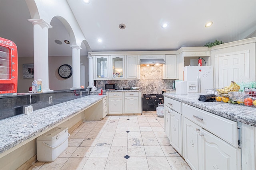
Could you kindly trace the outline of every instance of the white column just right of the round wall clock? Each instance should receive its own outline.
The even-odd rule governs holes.
[[[80,89],[81,88],[81,80],[80,80],[80,49],[78,45],[70,45],[72,48],[72,71],[73,71],[73,87],[72,89]]]

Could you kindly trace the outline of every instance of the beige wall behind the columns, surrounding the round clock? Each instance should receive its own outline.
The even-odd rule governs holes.
[[[33,57],[18,57],[18,93],[26,93],[32,84],[33,78],[23,78],[23,64],[34,63]],[[72,78],[61,78],[58,74],[58,68],[62,64],[69,64],[72,66],[71,56],[54,56],[49,57],[49,88],[51,90],[64,90],[72,88]],[[80,57],[80,81],[81,85],[88,87],[88,58],[86,56]]]

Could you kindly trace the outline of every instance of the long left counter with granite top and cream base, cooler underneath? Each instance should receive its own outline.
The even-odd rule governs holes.
[[[36,138],[62,126],[72,131],[86,115],[103,114],[102,96],[85,96],[0,121],[0,169],[16,169],[26,161],[36,161]],[[103,117],[102,117],[103,118]],[[28,166],[30,167],[28,162]]]

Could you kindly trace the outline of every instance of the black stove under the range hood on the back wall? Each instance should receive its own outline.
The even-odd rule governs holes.
[[[162,94],[143,94],[142,95],[142,111],[156,111],[158,104],[164,102]]]

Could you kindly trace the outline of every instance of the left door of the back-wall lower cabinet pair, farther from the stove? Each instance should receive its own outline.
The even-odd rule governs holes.
[[[108,98],[108,113],[122,114],[122,98]]]

